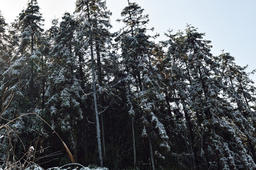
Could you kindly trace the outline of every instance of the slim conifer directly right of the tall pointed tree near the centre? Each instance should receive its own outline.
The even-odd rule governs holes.
[[[159,64],[162,67],[162,77],[164,77],[163,88],[166,89],[166,102],[169,103],[170,116],[172,121],[174,121],[174,125],[170,129],[179,131],[184,128],[183,130],[187,134],[183,137],[181,136],[181,139],[184,140],[188,148],[186,152],[188,152],[188,155],[191,155],[191,166],[193,169],[198,169],[198,153],[194,142],[196,138],[193,134],[195,125],[192,121],[193,115],[187,100],[189,94],[188,86],[191,85],[191,79],[190,73],[186,69],[186,47],[184,47],[186,44],[183,41],[184,37],[182,34],[178,32],[172,35],[171,31],[169,31],[169,34],[166,34],[169,40],[162,43],[164,47],[168,47],[168,50],[166,55],[159,59]],[[182,150],[180,149],[178,152],[182,153]]]

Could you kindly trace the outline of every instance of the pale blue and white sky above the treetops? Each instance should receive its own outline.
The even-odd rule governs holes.
[[[166,40],[167,30],[183,31],[187,24],[198,28],[198,32],[206,33],[205,39],[211,40],[213,55],[221,51],[230,52],[236,64],[248,65],[247,72],[256,69],[256,1],[255,0],[130,0],[137,2],[149,14],[149,28],[159,33],[158,40]],[[28,0],[0,0],[1,14],[6,23],[11,23],[18,13],[26,8]],[[45,19],[45,28],[49,28],[51,20],[61,18],[63,13],[73,13],[75,0],[38,0],[41,13]],[[127,0],[107,0],[107,7],[112,11],[112,30],[118,30],[122,24],[122,9]],[[61,20],[59,20],[61,21]],[[256,82],[256,74],[250,77]]]

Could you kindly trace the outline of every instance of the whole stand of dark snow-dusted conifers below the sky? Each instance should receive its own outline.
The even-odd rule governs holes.
[[[77,0],[48,30],[36,0],[0,14],[1,168],[255,169],[246,67],[190,25],[156,42],[137,3],[115,33],[111,14]]]

